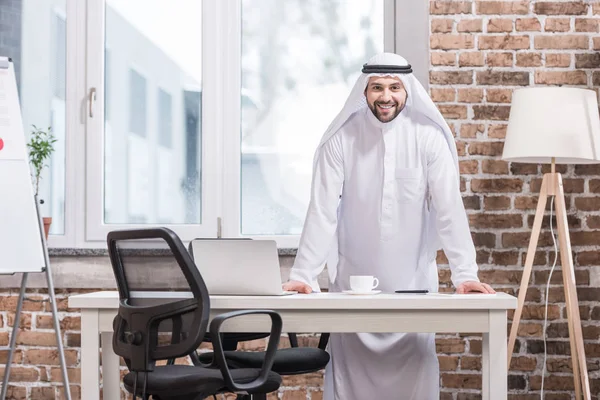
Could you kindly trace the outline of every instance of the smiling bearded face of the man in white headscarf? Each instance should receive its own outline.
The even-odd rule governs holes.
[[[365,89],[367,104],[381,122],[390,122],[406,104],[406,89],[400,78],[372,76]]]

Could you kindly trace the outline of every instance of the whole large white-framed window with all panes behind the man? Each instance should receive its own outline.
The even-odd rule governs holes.
[[[398,50],[404,2],[0,2],[26,132],[58,139],[41,187],[50,245],[166,226],[296,246],[318,141],[362,64]]]

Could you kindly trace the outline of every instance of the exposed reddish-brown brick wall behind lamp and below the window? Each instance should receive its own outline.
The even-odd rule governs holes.
[[[438,1],[431,3],[431,95],[457,137],[462,189],[478,251],[482,280],[516,294],[525,259],[541,173],[537,165],[500,160],[511,93],[528,85],[600,86],[600,3],[536,1]],[[600,168],[559,166],[564,174],[571,239],[575,254],[580,312],[592,393],[600,394]],[[539,398],[543,362],[542,323],[545,282],[553,259],[548,221],[540,239],[535,270],[511,366],[509,398]],[[443,255],[439,259],[445,264]],[[449,271],[440,281],[449,290]],[[572,398],[567,322],[560,270],[553,275],[548,309],[546,398]],[[77,291],[74,291],[75,293]],[[79,398],[77,310],[58,293],[74,398]],[[45,299],[34,293],[34,299]],[[0,294],[0,346],[8,344],[16,293]],[[23,332],[9,391],[13,399],[60,396],[60,369],[52,344],[47,303],[27,302]],[[306,339],[313,340],[313,339]],[[314,341],[314,340],[313,340]],[[250,343],[254,349],[262,343]],[[442,399],[478,399],[481,337],[439,335]],[[6,351],[0,351],[0,363]],[[0,368],[0,373],[2,373]],[[279,398],[322,398],[322,375],[284,380]],[[272,397],[274,398],[274,397]],[[113,400],[113,399],[111,399]]]

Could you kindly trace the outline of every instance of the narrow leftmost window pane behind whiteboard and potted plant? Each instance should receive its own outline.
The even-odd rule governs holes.
[[[66,0],[0,2],[0,55],[14,62],[26,138],[35,125],[57,139],[39,186],[52,235],[65,232],[66,18]]]

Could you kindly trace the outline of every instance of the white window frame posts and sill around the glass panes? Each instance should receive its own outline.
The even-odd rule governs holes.
[[[383,1],[385,51],[397,52],[411,60],[417,77],[427,88],[427,2],[417,6],[411,0]],[[104,151],[98,149],[104,149],[105,0],[66,0],[66,3],[65,229],[64,235],[50,235],[49,246],[105,248],[106,234],[110,230],[152,225],[102,223]],[[240,233],[241,104],[236,102],[232,109],[228,101],[240,96],[240,0],[202,1],[202,68],[202,224],[165,226],[176,231],[184,241],[195,237],[243,236],[276,240],[280,248],[296,248],[300,235]],[[90,96],[92,88],[96,90],[95,101]],[[157,85],[156,88],[149,86],[147,91],[154,89],[164,90]],[[147,104],[148,118],[152,118],[154,106],[151,98]],[[89,115],[90,107],[94,117]],[[152,243],[147,245],[153,247]]]

